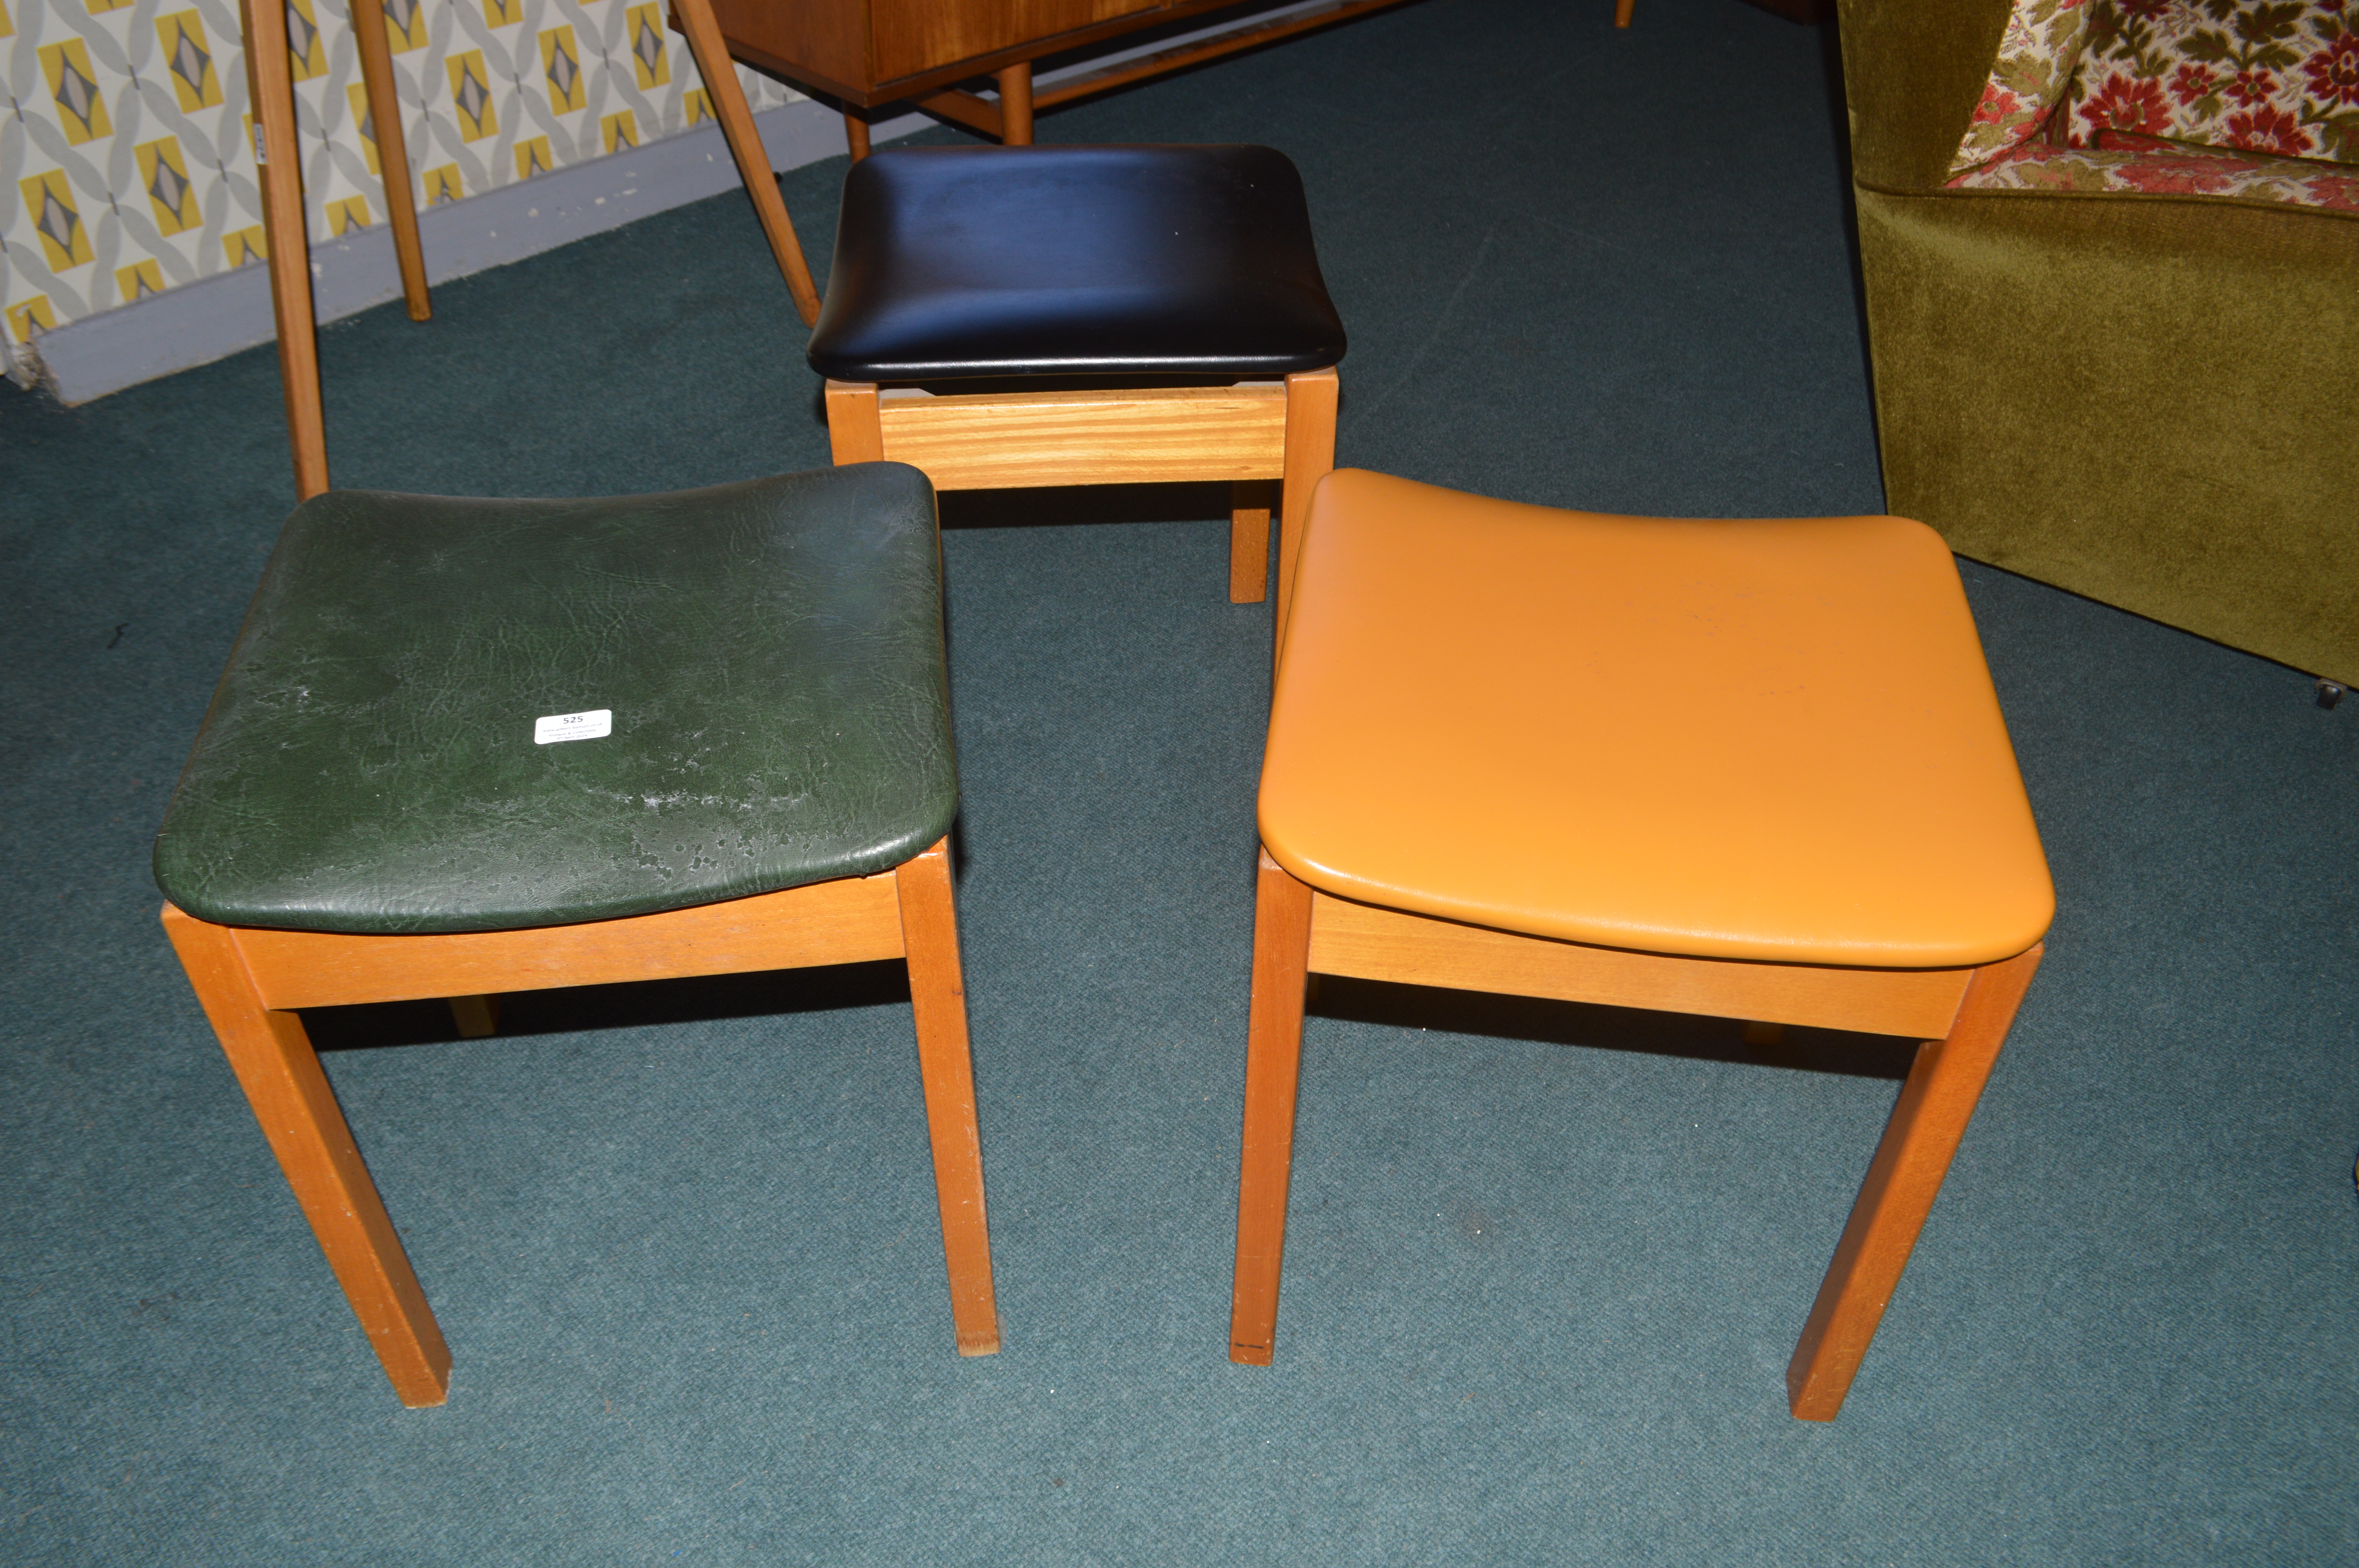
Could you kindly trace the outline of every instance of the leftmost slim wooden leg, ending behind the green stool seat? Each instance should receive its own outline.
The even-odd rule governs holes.
[[[262,233],[269,245],[271,311],[278,325],[278,384],[295,448],[295,498],[328,488],[328,422],[318,403],[318,335],[311,318],[311,236],[304,229],[302,165],[295,149],[295,78],[288,71],[288,14],[278,0],[241,0],[245,83],[262,137]]]

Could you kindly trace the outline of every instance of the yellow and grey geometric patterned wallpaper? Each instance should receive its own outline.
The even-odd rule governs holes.
[[[314,241],[387,222],[361,7],[382,5],[420,207],[712,113],[663,0],[283,2]],[[0,71],[9,342],[264,257],[238,0],[0,0]],[[738,78],[755,111],[800,97]]]

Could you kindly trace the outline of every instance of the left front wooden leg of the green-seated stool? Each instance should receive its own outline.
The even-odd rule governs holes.
[[[351,1146],[302,1019],[262,1007],[229,929],[172,905],[165,905],[163,927],[394,1394],[410,1408],[443,1403],[451,1349],[361,1151]]]

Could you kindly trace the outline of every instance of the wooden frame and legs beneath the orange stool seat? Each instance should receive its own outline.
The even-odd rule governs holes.
[[[1269,1365],[1312,974],[1651,1007],[1920,1040],[1908,1082],[1786,1368],[1795,1417],[1831,1422],[1899,1287],[2043,946],[1970,969],[1833,969],[1592,948],[1321,894],[1262,851],[1236,1198],[1229,1361]]]

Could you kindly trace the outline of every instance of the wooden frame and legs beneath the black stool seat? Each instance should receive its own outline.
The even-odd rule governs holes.
[[[1269,597],[1279,481],[1279,627],[1312,488],[1335,467],[1335,370],[1229,387],[929,391],[828,382],[835,462],[908,462],[937,490],[1229,481],[1229,601]]]

